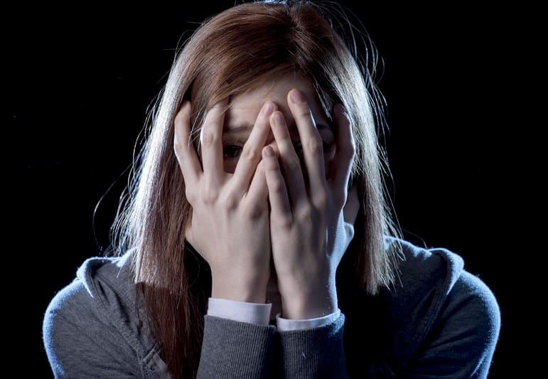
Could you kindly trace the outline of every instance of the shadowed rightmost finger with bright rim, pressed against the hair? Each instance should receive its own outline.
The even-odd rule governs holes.
[[[346,191],[355,155],[355,144],[350,119],[345,114],[343,105],[336,104],[333,107],[333,119],[335,119],[337,128],[337,137],[335,140],[335,161],[333,162],[335,174],[331,193],[333,193],[335,202],[342,206],[346,201]]]

